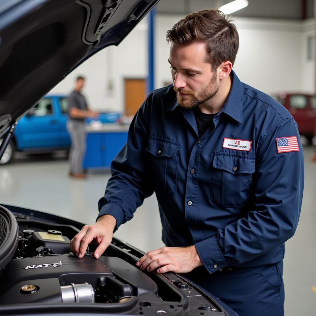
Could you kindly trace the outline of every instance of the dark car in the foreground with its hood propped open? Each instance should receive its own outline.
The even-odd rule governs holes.
[[[0,159],[33,105],[85,59],[118,45],[158,1],[3,0]],[[116,238],[99,259],[93,244],[77,258],[69,240],[83,225],[0,206],[1,315],[236,315],[183,275],[140,270],[144,253]]]

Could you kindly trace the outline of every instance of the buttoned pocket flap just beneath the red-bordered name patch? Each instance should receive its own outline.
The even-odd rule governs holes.
[[[234,153],[215,152],[213,167],[226,170],[232,174],[254,173],[256,156]]]

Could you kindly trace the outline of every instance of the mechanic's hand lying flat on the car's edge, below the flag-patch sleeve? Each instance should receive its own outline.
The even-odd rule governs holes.
[[[147,252],[136,264],[142,270],[152,271],[160,266],[158,273],[173,271],[188,273],[203,265],[195,246],[190,247],[162,247]]]

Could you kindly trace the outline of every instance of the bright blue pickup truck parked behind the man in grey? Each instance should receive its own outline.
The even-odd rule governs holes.
[[[69,150],[71,140],[66,129],[67,111],[67,96],[46,95],[42,98],[19,120],[0,164],[12,161],[15,151],[35,154]],[[100,113],[97,121],[115,123],[119,119],[119,113],[109,112]],[[87,124],[94,121],[86,119]]]

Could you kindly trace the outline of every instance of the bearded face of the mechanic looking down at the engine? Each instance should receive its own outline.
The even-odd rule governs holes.
[[[190,109],[216,95],[219,89],[216,71],[212,71],[206,57],[204,43],[171,44],[168,62],[180,106]]]

